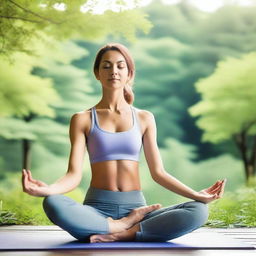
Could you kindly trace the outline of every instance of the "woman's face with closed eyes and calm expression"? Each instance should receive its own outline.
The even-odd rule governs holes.
[[[124,56],[119,51],[109,50],[101,58],[96,78],[108,88],[123,87],[129,81],[129,70]]]

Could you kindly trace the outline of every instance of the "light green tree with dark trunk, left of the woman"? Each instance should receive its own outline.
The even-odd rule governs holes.
[[[41,59],[16,53],[15,63],[11,64],[5,59],[0,62],[0,67],[2,67],[0,72],[2,81],[0,84],[0,116],[2,116],[0,136],[9,141],[22,142],[23,168],[30,168],[33,141],[47,141],[51,145],[54,142],[56,144],[66,142],[67,123],[57,120],[56,110],[63,108],[68,103],[70,103],[68,105],[70,107],[71,100],[73,100],[73,109],[71,110],[81,110],[76,108],[75,104],[79,103],[78,99],[85,101],[86,94],[82,93],[82,90],[78,91],[77,87],[84,86],[84,91],[89,90],[88,82],[85,79],[86,72],[72,67],[70,64],[74,59],[86,55],[87,52],[72,42],[55,42],[55,46],[56,48],[47,48],[38,43],[37,53],[44,56]],[[62,90],[63,85],[69,84],[69,87],[72,88],[70,91],[73,92],[69,91],[69,96],[72,98],[65,100],[64,104],[61,94],[58,93],[58,90],[56,91],[56,80],[50,76],[40,77],[35,67],[65,74],[63,79],[66,81],[61,81],[59,84],[62,85]],[[49,117],[51,119],[47,119]],[[66,117],[66,119],[68,118]],[[5,152],[2,154],[5,155]]]

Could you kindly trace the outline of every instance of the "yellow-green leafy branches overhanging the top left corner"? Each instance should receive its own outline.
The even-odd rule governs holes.
[[[102,39],[107,35],[135,39],[137,30],[149,31],[151,23],[140,9],[128,10],[125,1],[112,1],[120,12],[107,10],[103,15],[93,11],[99,1],[27,1],[3,0],[0,5],[0,55],[14,52],[34,53],[31,39],[43,40],[42,33],[57,40]],[[134,7],[140,1],[134,1]],[[82,5],[87,11],[82,12]],[[85,10],[86,8],[84,8]],[[129,21],[129,22],[128,22]],[[46,42],[45,42],[46,43]]]

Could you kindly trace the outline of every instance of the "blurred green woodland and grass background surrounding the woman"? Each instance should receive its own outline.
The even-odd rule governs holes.
[[[0,224],[50,224],[21,170],[50,184],[67,171],[69,121],[95,105],[92,66],[107,42],[136,64],[134,106],[151,111],[165,169],[195,190],[227,178],[209,226],[256,226],[256,1],[5,1],[0,7]],[[82,201],[90,182],[69,196]],[[187,199],[157,185],[147,202]]]

